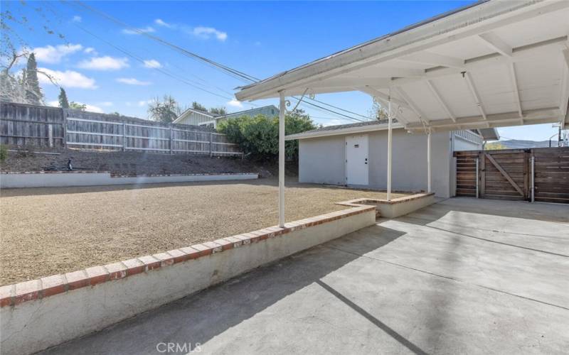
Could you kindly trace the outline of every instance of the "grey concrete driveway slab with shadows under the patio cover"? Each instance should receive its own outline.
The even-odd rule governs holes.
[[[202,354],[566,354],[569,206],[445,200],[46,354],[189,344]]]

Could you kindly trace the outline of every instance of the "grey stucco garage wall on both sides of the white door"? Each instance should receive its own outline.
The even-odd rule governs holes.
[[[387,131],[369,135],[369,185],[387,187]],[[299,141],[299,181],[344,185],[346,136],[307,138]],[[450,132],[432,134],[432,187],[437,197],[451,193]],[[427,190],[427,136],[403,129],[393,131],[392,189]]]

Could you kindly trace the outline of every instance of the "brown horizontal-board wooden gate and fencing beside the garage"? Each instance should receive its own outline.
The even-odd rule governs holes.
[[[457,196],[569,203],[569,147],[457,151]]]

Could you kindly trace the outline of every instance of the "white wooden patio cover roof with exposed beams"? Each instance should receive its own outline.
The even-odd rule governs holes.
[[[489,1],[240,88],[360,91],[409,131],[569,123],[569,1]]]

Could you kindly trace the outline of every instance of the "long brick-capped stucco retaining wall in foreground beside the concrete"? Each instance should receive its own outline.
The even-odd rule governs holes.
[[[1,353],[31,354],[95,332],[375,220],[375,207],[352,207],[285,228],[2,286]]]

